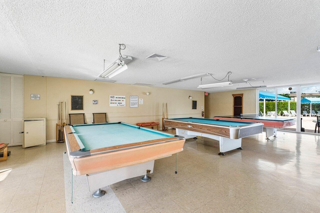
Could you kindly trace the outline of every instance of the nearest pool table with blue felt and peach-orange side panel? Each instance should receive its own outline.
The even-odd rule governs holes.
[[[68,125],[64,134],[72,173],[86,174],[89,190],[98,189],[93,196],[101,195],[100,187],[152,172],[155,159],[182,151],[185,141],[123,122]]]

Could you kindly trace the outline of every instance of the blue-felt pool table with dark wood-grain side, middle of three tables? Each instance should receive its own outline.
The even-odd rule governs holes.
[[[219,155],[241,148],[241,138],[262,132],[262,123],[215,120],[207,118],[172,118],[164,119],[164,125],[175,128],[177,135],[191,138],[203,136],[219,141]]]

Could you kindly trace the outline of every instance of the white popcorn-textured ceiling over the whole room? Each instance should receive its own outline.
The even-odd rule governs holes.
[[[252,85],[318,83],[319,11],[318,0],[0,0],[0,72],[95,80],[124,43],[133,60],[115,83],[202,90],[218,81],[162,83],[228,71]]]

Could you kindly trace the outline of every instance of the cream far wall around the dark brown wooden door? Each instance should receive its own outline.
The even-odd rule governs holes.
[[[205,118],[219,115],[233,115],[232,94],[243,93],[243,113],[257,113],[257,90],[243,89],[224,92],[209,93],[205,96]]]

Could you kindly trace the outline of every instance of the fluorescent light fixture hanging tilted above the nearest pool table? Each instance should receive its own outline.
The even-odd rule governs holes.
[[[106,69],[104,69],[105,60],[103,60],[103,72],[99,74],[99,77],[111,78],[128,68],[125,63],[131,61],[132,57],[129,55],[122,56],[121,49],[125,49],[125,45],[123,43],[119,43],[119,58],[106,67]]]

